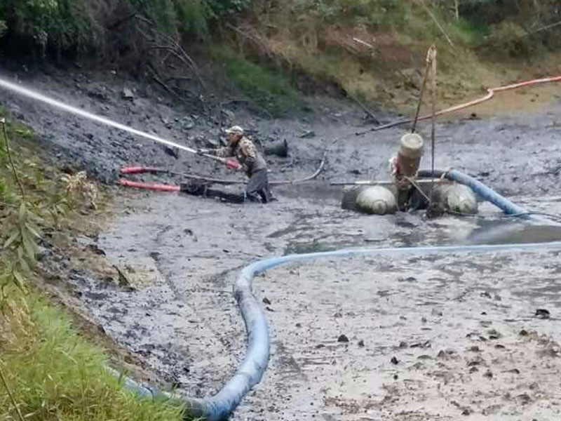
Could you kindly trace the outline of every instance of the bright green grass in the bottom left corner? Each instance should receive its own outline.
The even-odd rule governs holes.
[[[76,333],[67,316],[36,293],[11,290],[0,314],[1,369],[26,420],[173,421],[181,408],[139,399],[106,370],[107,357]],[[4,385],[0,385],[4,389]],[[0,393],[0,420],[18,420]]]

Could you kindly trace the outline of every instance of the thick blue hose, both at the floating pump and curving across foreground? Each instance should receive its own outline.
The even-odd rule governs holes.
[[[421,176],[445,175],[450,180],[468,185],[482,198],[491,201],[507,214],[529,215],[520,206],[515,205],[500,194],[497,194],[481,182],[459,171],[421,171]],[[233,377],[215,396],[205,399],[185,398],[177,394],[158,392],[143,385],[139,385],[125,377],[124,385],[142,396],[160,396],[164,399],[177,399],[183,401],[186,415],[205,417],[208,421],[226,420],[230,413],[238,406],[250,389],[261,380],[269,361],[269,326],[259,302],[252,293],[252,281],[257,274],[273,267],[291,262],[302,262],[320,258],[344,258],[353,255],[428,255],[434,253],[487,253],[505,250],[536,250],[544,248],[561,248],[561,241],[549,243],[522,243],[522,244],[497,244],[480,246],[440,246],[440,247],[404,247],[404,248],[379,248],[379,249],[351,249],[335,250],[321,253],[306,253],[288,255],[283,257],[259,260],[243,268],[240,276],[234,283],[234,297],[240,307],[245,328],[248,332],[248,351],[243,363]]]

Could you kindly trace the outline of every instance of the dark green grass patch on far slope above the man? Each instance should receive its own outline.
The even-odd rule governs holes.
[[[212,47],[210,56],[230,83],[271,114],[297,105],[298,94],[280,69],[252,62],[228,46]]]

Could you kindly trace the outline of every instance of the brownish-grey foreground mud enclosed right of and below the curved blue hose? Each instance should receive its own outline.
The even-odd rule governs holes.
[[[256,289],[271,303],[264,382],[276,387],[272,399],[269,390],[252,394],[247,419],[292,420],[293,407],[303,419],[557,419],[561,348],[550,338],[559,330],[534,314],[542,305],[559,312],[558,255],[367,257],[273,269]],[[538,271],[529,264],[536,258]]]

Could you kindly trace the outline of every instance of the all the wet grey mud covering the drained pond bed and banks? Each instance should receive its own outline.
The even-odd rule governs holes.
[[[189,147],[207,145],[203,137],[217,139],[217,121],[186,115],[158,100],[163,93],[113,74],[21,77],[43,93]],[[137,88],[132,101],[121,98],[125,84]],[[561,88],[551,89],[561,95]],[[119,166],[132,163],[231,177],[198,156],[176,159],[159,145],[5,91],[0,102],[34,127],[48,156],[100,180],[113,181]],[[263,145],[288,140],[288,159],[269,159],[273,180],[312,173],[328,143],[367,127],[360,112],[320,100],[318,114],[298,120],[231,112],[229,122],[250,128]],[[560,112],[555,100],[525,114],[449,119],[437,128],[435,166],[475,175],[521,206],[561,213]],[[487,203],[479,218],[437,220],[340,209],[341,189],[328,182],[387,179],[387,161],[403,133],[337,142],[318,180],[278,187],[279,200],[266,206],[111,187],[111,222],[97,236],[77,238],[75,246],[102,250],[124,279],[74,267],[65,288],[107,335],[144,360],[160,384],[208,396],[245,354],[231,286],[250,262],[344,247],[557,238],[553,230],[502,218]],[[421,134],[428,133],[421,124]],[[428,167],[428,154],[424,163]],[[255,293],[268,310],[271,361],[232,419],[556,420],[558,260],[556,252],[532,250],[370,257],[290,265],[258,276]],[[536,317],[536,309],[548,309],[550,318]]]

